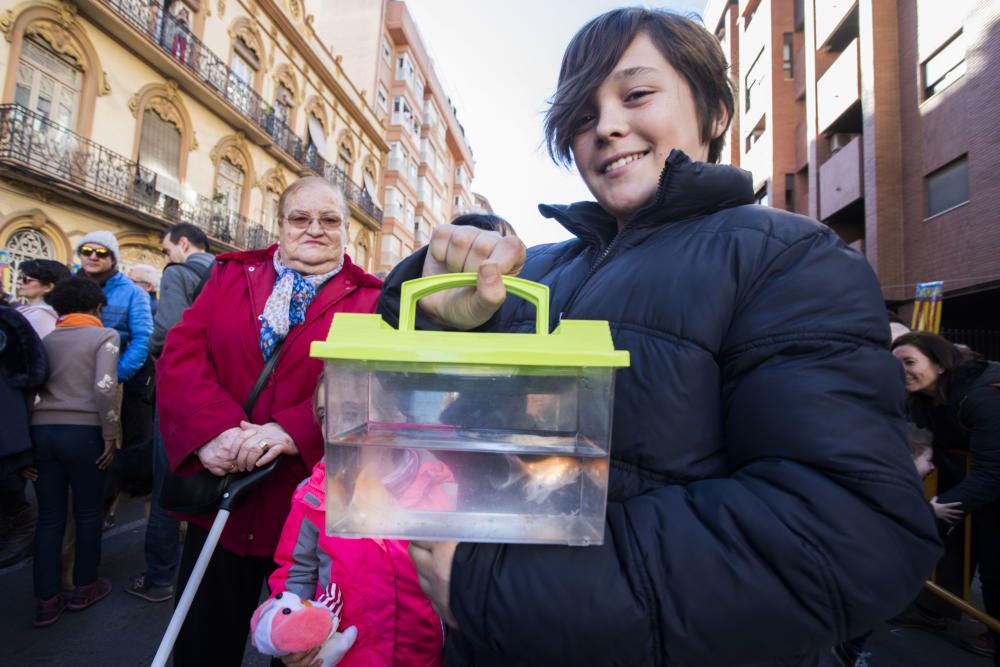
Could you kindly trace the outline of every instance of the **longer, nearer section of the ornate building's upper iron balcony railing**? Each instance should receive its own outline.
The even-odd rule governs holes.
[[[147,0],[104,2],[157,48],[170,54],[198,80],[214,89],[229,106],[271,137],[281,150],[302,162],[302,140],[275,115],[274,108],[250,84],[236,76],[224,60],[194,36],[186,23],[163,11],[161,3]]]

